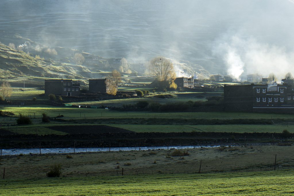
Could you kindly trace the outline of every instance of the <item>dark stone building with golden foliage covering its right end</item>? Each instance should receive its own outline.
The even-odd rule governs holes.
[[[110,78],[101,78],[101,79],[89,79],[89,92],[91,93],[108,93],[113,84],[113,80]],[[115,86],[117,91],[117,86]]]

